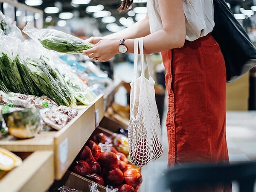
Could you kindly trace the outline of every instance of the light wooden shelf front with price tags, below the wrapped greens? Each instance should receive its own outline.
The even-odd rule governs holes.
[[[122,81],[115,80],[86,108],[78,109],[78,115],[59,131],[41,131],[35,137],[19,140],[8,136],[1,138],[0,147],[12,152],[53,151],[55,180],[60,180],[99,125],[105,113],[105,101],[113,100],[116,88]]]

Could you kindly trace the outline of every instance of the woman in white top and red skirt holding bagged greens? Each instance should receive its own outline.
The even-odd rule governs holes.
[[[124,0],[119,9],[131,3]],[[212,0],[148,0],[147,9],[145,19],[133,26],[89,38],[95,47],[83,53],[107,61],[120,52],[133,53],[134,38],[144,37],[144,53],[161,52],[166,69],[168,164],[228,161],[226,70],[210,33]],[[122,39],[127,50],[119,45]]]

